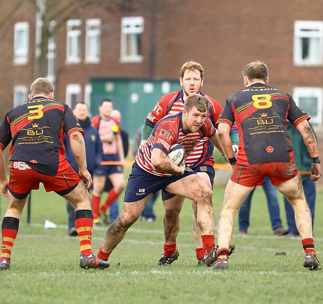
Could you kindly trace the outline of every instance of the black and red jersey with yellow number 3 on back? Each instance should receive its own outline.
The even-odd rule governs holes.
[[[23,161],[47,176],[56,176],[65,160],[64,132],[70,136],[83,129],[68,105],[35,97],[9,111],[0,124],[0,148],[12,140],[9,160]]]

